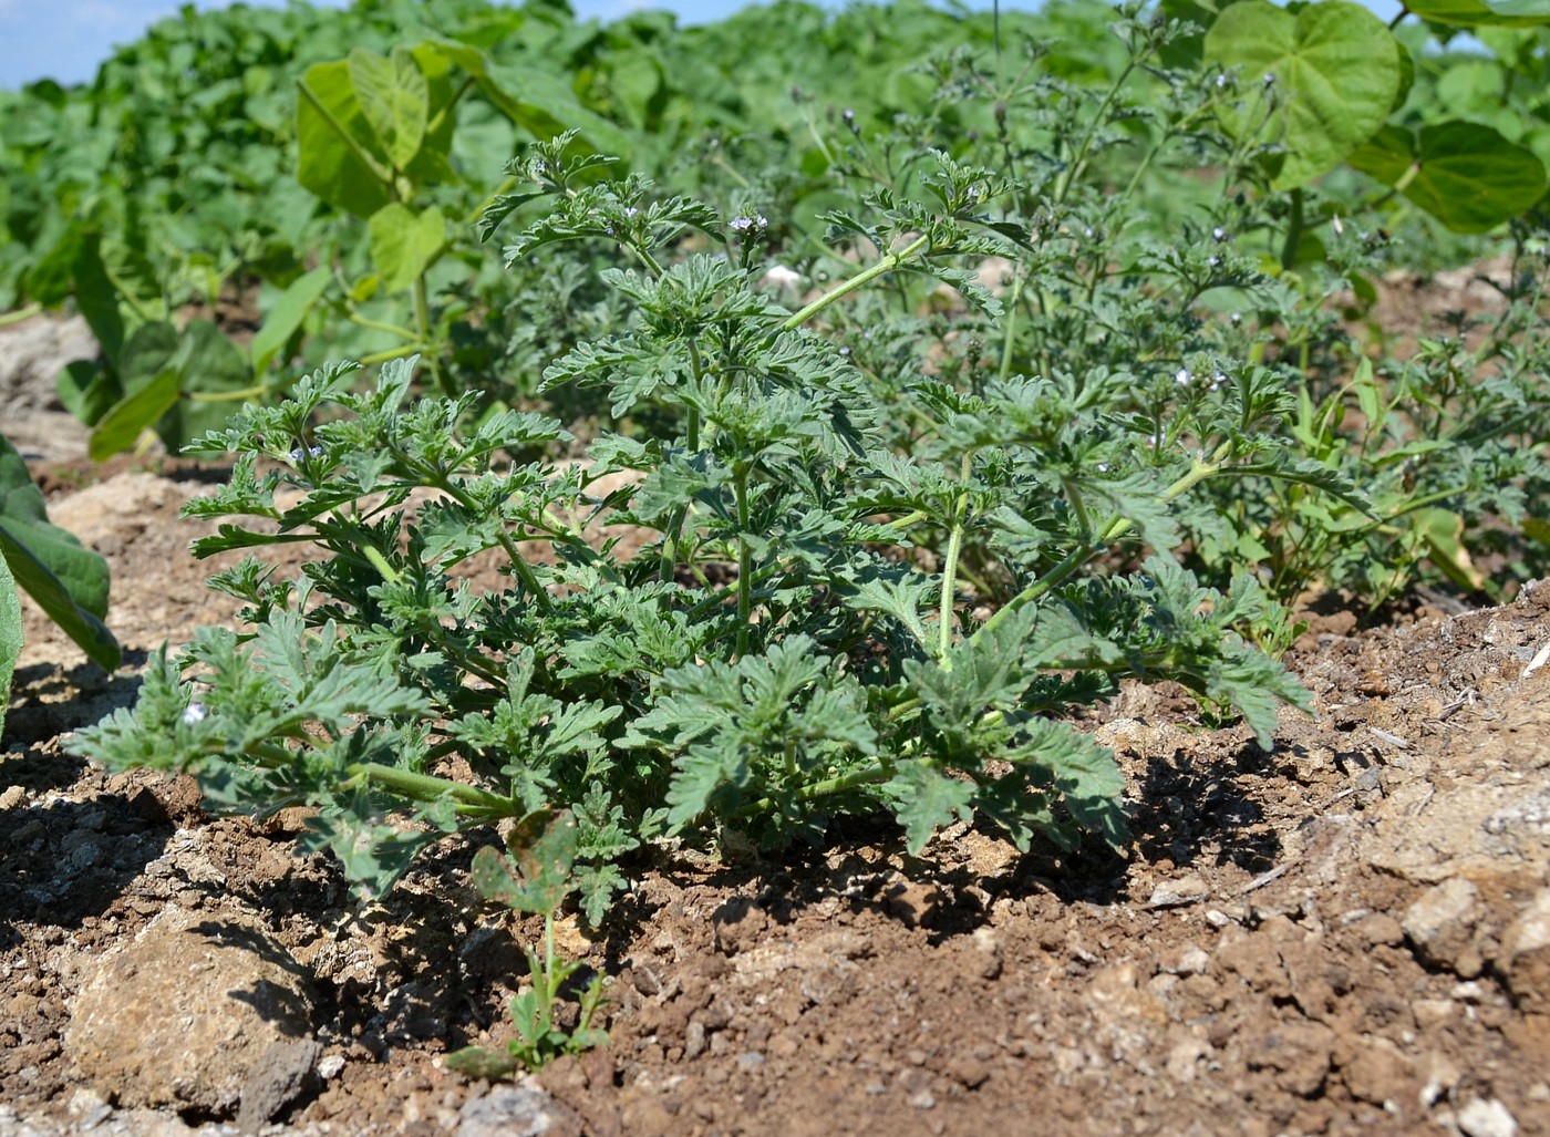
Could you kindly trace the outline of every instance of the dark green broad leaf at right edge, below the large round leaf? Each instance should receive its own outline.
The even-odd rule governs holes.
[[[1348,161],[1454,232],[1490,232],[1545,192],[1539,156],[1479,122],[1438,122],[1420,135],[1389,125]]]

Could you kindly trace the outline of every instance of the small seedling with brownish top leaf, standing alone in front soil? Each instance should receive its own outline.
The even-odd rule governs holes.
[[[512,998],[516,1038],[505,1052],[470,1046],[446,1056],[450,1067],[473,1078],[504,1078],[518,1067],[536,1070],[561,1055],[608,1043],[608,1032],[592,1025],[603,1004],[603,976],[592,976],[581,988],[574,1024],[561,1024],[556,1015],[564,988],[581,968],[555,951],[555,914],[575,886],[575,818],[549,810],[529,815],[512,827],[507,847],[515,864],[488,846],[474,855],[474,886],[485,898],[542,915],[544,950],[524,948],[529,985]]]

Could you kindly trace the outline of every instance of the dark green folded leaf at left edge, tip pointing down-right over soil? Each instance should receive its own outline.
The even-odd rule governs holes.
[[[17,586],[74,640],[90,660],[113,671],[118,643],[102,624],[107,615],[107,561],[48,522],[43,494],[26,463],[0,435],[0,558]]]

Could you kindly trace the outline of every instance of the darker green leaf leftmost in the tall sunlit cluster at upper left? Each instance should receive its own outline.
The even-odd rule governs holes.
[[[296,178],[329,204],[370,217],[392,200],[392,173],[374,153],[377,135],[355,99],[350,65],[315,64],[298,85]]]

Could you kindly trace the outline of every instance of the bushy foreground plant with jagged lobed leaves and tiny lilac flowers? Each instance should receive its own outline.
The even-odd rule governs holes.
[[[880,445],[879,389],[801,328],[902,270],[994,310],[950,259],[1001,248],[980,211],[1014,183],[938,155],[924,177],[935,209],[879,194],[879,222],[837,217],[837,232],[887,252],[789,313],[753,290],[753,268],[662,263],[688,228],[719,237],[716,214],[653,198],[637,175],[597,183],[598,160],[567,155],[567,141],[518,167],[555,204],[508,257],[609,237],[642,268],[606,274],[631,327],[577,347],[549,380],[606,384],[618,414],[649,401],[670,412],[666,432],[603,432],[581,466],[504,465],[564,431],[518,412],[465,431],[473,397],[411,406],[403,359],[367,393],[332,367],[277,407],[246,407],[205,441],[245,455],[231,485],[191,511],[279,531],[223,525],[195,551],[305,541],[327,556],[296,586],[253,561],[219,575],[250,603],[254,634],[206,630],[181,665],[161,657],[136,711],[87,731],[84,753],[189,768],[231,806],[316,804],[318,840],[375,886],[442,833],[570,809],[595,920],[618,858],[662,833],[817,841],[834,816],[884,807],[913,849],[975,813],[1023,849],[1082,832],[1121,844],[1113,757],[1046,716],[1122,675],[1235,708],[1266,745],[1277,702],[1305,705],[1240,635],[1282,621],[1252,579],[1203,589],[1162,556],[1082,576],[1127,534],[1170,547],[1170,511],[1203,480],[1277,471],[1265,428],[1285,397],[1269,372],[1246,369],[1197,403],[1206,445],[1181,466],[1021,378],[981,393],[916,383],[933,441],[904,457]],[[487,226],[527,197],[498,201]],[[750,228],[746,215],[728,226]],[[344,415],[319,418],[329,407]],[[1083,471],[1062,472],[1043,445],[1051,420],[1090,434]],[[282,468],[259,476],[257,455]],[[604,477],[623,483],[589,494]],[[301,491],[287,507],[282,485]],[[406,517],[415,491],[434,500]],[[587,541],[587,520],[628,525],[645,547],[622,558]],[[994,556],[986,575],[1015,582],[994,613],[961,590],[970,539]],[[457,582],[480,556],[510,590]],[[499,788],[436,775],[454,751]],[[386,823],[391,802],[422,826]]]

